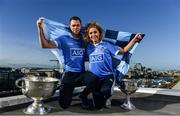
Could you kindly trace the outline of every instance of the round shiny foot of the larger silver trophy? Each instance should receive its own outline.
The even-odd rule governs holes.
[[[25,114],[48,114],[51,111],[51,108],[48,108],[47,106],[38,106],[35,107],[33,104],[28,106],[28,108],[24,109],[23,112]]]

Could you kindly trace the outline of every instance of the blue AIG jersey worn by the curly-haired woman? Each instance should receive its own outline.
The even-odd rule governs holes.
[[[106,41],[101,41],[97,45],[89,43],[87,46],[89,71],[100,78],[113,74],[112,56],[114,56],[119,49],[119,47]]]

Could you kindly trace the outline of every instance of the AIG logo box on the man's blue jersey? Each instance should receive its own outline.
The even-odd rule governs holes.
[[[71,48],[70,56],[71,57],[83,57],[84,49],[83,48]]]

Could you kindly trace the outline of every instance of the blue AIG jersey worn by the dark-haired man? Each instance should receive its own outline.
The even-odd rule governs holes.
[[[60,36],[54,41],[57,48],[62,49],[65,72],[81,72],[84,70],[84,43],[82,39]]]

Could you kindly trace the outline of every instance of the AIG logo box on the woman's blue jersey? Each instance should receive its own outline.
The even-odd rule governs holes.
[[[93,54],[90,55],[90,63],[94,63],[94,62],[103,62],[104,60],[104,54]]]

